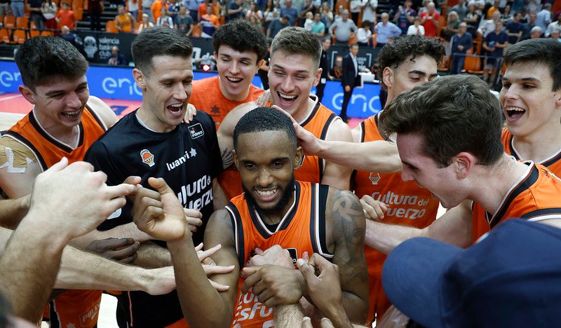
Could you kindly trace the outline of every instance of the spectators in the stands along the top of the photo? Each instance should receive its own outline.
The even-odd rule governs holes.
[[[102,29],[103,1],[67,1],[0,0],[0,15],[27,15],[32,29],[72,31],[86,11],[90,29]],[[76,6],[80,1],[87,7]],[[288,26],[309,29],[320,39],[330,36],[335,45],[360,47],[381,48],[401,34],[440,37],[446,48],[443,70],[482,74],[489,85],[508,45],[530,38],[561,41],[561,6],[552,0],[111,0],[109,7],[118,11],[105,28],[114,33],[165,25],[211,38],[219,25],[245,19],[269,39]]]

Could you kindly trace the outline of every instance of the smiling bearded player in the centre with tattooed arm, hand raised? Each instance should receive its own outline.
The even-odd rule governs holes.
[[[367,271],[360,203],[349,191],[295,182],[293,171],[302,158],[296,142],[290,119],[270,108],[250,111],[236,125],[234,160],[245,193],[231,200],[226,210],[215,212],[205,231],[205,245],[222,245],[214,261],[235,269],[212,280],[235,284],[256,247],[264,250],[279,244],[292,252],[294,260],[304,252],[318,252],[339,266],[346,313],[351,320],[364,322]],[[294,266],[245,268],[248,278],[237,304],[236,290],[212,290],[203,281],[201,266],[194,262],[191,233],[178,215],[181,208],[173,191],[163,179],[150,179],[149,184],[161,193],[165,216],[158,218],[151,201],[138,202],[136,211],[144,214],[135,215],[140,218],[135,223],[154,238],[168,242],[177,291],[189,324],[229,327],[237,309],[235,324],[271,327],[272,308],[283,310],[306,295],[304,278]],[[248,292],[250,287],[252,292]]]

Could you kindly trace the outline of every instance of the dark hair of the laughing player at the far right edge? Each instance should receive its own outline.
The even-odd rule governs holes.
[[[549,68],[553,78],[553,90],[561,88],[561,43],[551,39],[528,39],[506,48],[504,62],[510,66],[515,62],[542,63]]]

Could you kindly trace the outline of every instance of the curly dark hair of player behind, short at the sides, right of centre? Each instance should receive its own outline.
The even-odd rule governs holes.
[[[440,39],[414,34],[400,36],[393,39],[392,43],[386,43],[378,54],[378,60],[380,71],[383,71],[386,67],[397,69],[405,60],[417,56],[432,57],[437,64],[440,64],[444,55],[445,49]]]

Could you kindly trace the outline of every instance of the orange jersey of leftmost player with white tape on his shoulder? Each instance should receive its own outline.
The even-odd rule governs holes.
[[[78,128],[79,144],[76,149],[72,149],[49,135],[37,121],[34,111],[30,111],[6,132],[6,136],[27,146],[37,158],[41,170],[44,171],[58,163],[62,157],[68,158],[69,163],[83,160],[89,146],[107,130],[103,121],[88,105],[83,110]],[[50,326],[95,327],[100,302],[99,290],[69,290],[50,302]]]

